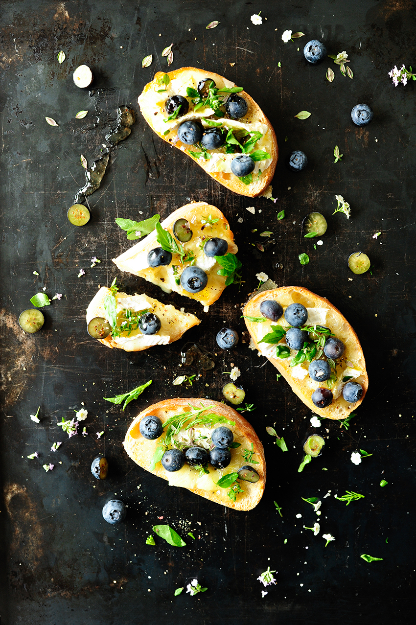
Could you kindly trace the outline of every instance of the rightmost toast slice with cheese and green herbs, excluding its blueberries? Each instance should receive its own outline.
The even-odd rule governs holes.
[[[263,316],[260,311],[260,304],[264,301],[279,302],[282,306],[283,314],[277,321],[271,321]],[[285,336],[279,340],[279,328],[287,330],[291,327],[284,317],[285,310],[290,304],[302,304],[306,307],[308,317],[300,329],[306,327],[312,329],[309,331],[308,339],[310,347],[302,348],[300,351],[287,347]],[[252,344],[255,349],[259,350],[259,355],[267,357],[274,364],[285,380],[289,382],[295,394],[312,412],[329,419],[345,419],[350,412],[360,405],[369,386],[364,354],[354,329],[342,313],[327,299],[304,287],[280,287],[259,292],[249,299],[244,306],[243,314],[252,338]],[[273,327],[276,328],[277,332],[273,330]],[[322,332],[320,328],[322,328]],[[331,377],[327,381],[314,381],[309,376],[310,361],[314,359],[329,361],[322,353],[322,346],[331,334],[344,343],[344,354],[330,362],[330,365],[336,365],[336,372],[331,366]],[[270,342],[264,341],[267,335],[269,335],[267,341]],[[281,357],[277,357],[279,347]],[[316,349],[315,353],[314,348]],[[298,354],[300,355],[298,356]],[[302,354],[305,356],[303,361]],[[296,356],[297,360],[294,361]],[[362,394],[355,402],[345,401],[342,396],[347,382],[357,382],[362,387]],[[312,401],[312,393],[318,388],[329,389],[332,392],[332,402],[329,405],[319,407]]]

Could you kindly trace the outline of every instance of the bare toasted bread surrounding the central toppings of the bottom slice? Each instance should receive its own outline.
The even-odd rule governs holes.
[[[156,441],[149,441],[145,439],[140,431],[139,431],[139,423],[143,417],[154,415],[159,417],[162,422],[165,422],[169,417],[179,414],[181,412],[187,411],[189,406],[192,406],[196,409],[201,408],[202,406],[209,409],[209,412],[214,412],[215,414],[219,414],[224,416],[226,419],[230,419],[235,422],[235,426],[231,426],[225,424],[229,427],[234,433],[234,441],[240,442],[240,447],[237,449],[232,449],[232,461],[229,467],[222,469],[223,474],[227,474],[231,471],[235,470],[235,467],[240,468],[245,464],[250,464],[250,462],[244,461],[242,456],[240,455],[244,449],[250,449],[251,444],[253,444],[253,450],[255,452],[254,459],[259,462],[259,464],[253,464],[256,471],[259,472],[260,479],[258,482],[250,483],[246,481],[241,481],[240,486],[244,489],[244,492],[237,494],[236,501],[232,501],[227,497],[227,489],[218,488],[214,491],[206,491],[198,487],[186,487],[191,492],[204,497],[205,499],[210,499],[210,501],[215,501],[216,503],[222,504],[223,506],[227,506],[233,508],[234,510],[241,511],[249,511],[259,503],[262,494],[264,492],[265,479],[266,479],[266,466],[265,466],[265,458],[264,458],[264,449],[259,440],[259,437],[254,431],[254,428],[249,424],[249,422],[244,419],[240,415],[239,412],[235,411],[234,408],[230,406],[226,406],[217,401],[211,401],[209,399],[195,399],[195,398],[186,398],[186,397],[178,397],[177,399],[164,399],[164,401],[159,401],[157,404],[152,404],[151,406],[147,406],[137,417],[132,421],[131,426],[127,430],[126,437],[124,439],[124,449],[127,452],[127,455],[131,457],[136,464],[139,464],[146,471],[150,471],[151,461],[153,454],[156,450],[159,439]],[[164,435],[162,435],[164,436]],[[230,468],[232,467],[232,468]],[[214,479],[218,481],[221,476],[221,472],[210,467],[212,474],[214,475]],[[158,477],[162,477],[169,481],[169,477],[173,476],[175,481],[181,481],[181,472],[183,472],[184,479],[187,479],[187,476],[193,472],[194,475],[197,475],[197,471],[195,469],[191,469],[189,466],[185,465],[182,467],[180,471],[176,471],[174,473],[169,473],[165,471],[162,467],[161,462],[156,464],[155,470],[151,471],[154,475]],[[193,477],[193,476],[192,476]],[[180,484],[176,484],[180,485]]]

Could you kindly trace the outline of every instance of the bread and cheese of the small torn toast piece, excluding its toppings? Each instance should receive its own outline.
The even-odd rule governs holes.
[[[96,296],[91,301],[91,304],[87,307],[87,324],[94,319],[94,317],[103,317],[109,321],[109,318],[104,308],[104,299],[107,295],[111,294],[110,289],[106,286],[102,286],[97,292]],[[139,329],[134,329],[130,332],[121,332],[120,336],[107,336],[105,339],[98,339],[103,345],[107,347],[119,347],[124,351],[142,351],[147,347],[154,345],[167,345],[173,341],[177,341],[181,338],[182,334],[189,330],[190,327],[197,326],[201,321],[190,312],[178,311],[174,306],[170,304],[162,304],[154,299],[154,297],[147,297],[145,294],[141,295],[127,295],[126,293],[117,292],[117,326],[121,323],[122,319],[125,319],[126,310],[131,312],[139,312],[148,310],[154,312],[161,320],[162,327],[156,334],[142,334]]]

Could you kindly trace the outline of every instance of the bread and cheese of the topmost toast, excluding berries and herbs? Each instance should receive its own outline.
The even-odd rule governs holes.
[[[187,96],[186,90],[188,87],[196,90],[199,81],[205,78],[212,79],[217,89],[234,88],[234,83],[224,78],[224,76],[219,76],[219,74],[196,68],[176,69],[175,71],[169,72],[167,76],[169,76],[170,79],[169,84],[167,84],[166,90],[162,91],[162,93],[158,93],[158,91],[160,92],[164,89],[164,83],[162,83],[164,73],[157,72],[154,80],[146,85],[142,94],[139,96],[138,102],[140,110],[149,126],[151,126],[161,139],[164,139],[167,143],[170,143],[187,154],[187,156],[199,164],[209,176],[215,178],[217,182],[227,187],[227,189],[249,197],[256,197],[264,192],[274,176],[279,151],[274,129],[259,105],[250,98],[248,93],[240,91],[238,95],[244,98],[248,105],[245,116],[237,120],[230,119],[225,113],[224,106],[222,106],[221,109],[224,112],[224,116],[217,117],[214,114],[214,110],[207,106],[202,106],[195,110],[192,98]],[[165,110],[165,103],[168,98],[177,95],[187,99],[189,110],[182,116],[178,115],[176,119],[165,121],[168,117]],[[229,96],[229,93],[218,95],[219,98],[225,99]],[[205,121],[206,119],[209,121]],[[179,141],[177,129],[182,123],[189,120],[201,122],[204,128],[214,126],[214,124],[209,124],[210,121],[222,123],[221,128],[225,134],[229,130],[234,131],[234,134],[236,131],[258,131],[262,133],[262,137],[252,146],[249,154],[257,150],[262,150],[268,153],[270,157],[255,163],[255,169],[252,173],[252,182],[250,184],[244,184],[237,176],[234,176],[230,169],[231,160],[235,158],[235,156],[242,154],[241,151],[236,151],[234,154],[225,154],[225,148],[221,146],[217,149],[208,150],[210,158],[205,159],[200,147],[197,145],[192,146],[184,144],[182,141]],[[196,156],[191,154],[192,152],[197,153]],[[198,154],[201,154],[201,156],[198,156]],[[259,171],[262,173],[260,174]]]

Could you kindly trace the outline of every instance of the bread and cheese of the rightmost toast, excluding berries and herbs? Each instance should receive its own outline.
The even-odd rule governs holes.
[[[304,361],[302,364],[290,367],[292,357],[297,354],[296,351],[290,350],[290,357],[278,358],[276,356],[276,344],[260,342],[264,336],[270,332],[270,326],[284,326],[289,328],[289,324],[285,321],[284,314],[279,321],[270,321],[265,319],[264,322],[250,321],[245,319],[245,324],[252,337],[252,342],[259,355],[265,356],[279,370],[287,382],[289,382],[297,396],[302,399],[315,414],[329,419],[345,419],[350,412],[355,410],[364,399],[365,392],[369,386],[369,378],[365,370],[364,354],[362,352],[357,334],[350,326],[347,319],[340,311],[332,306],[327,299],[319,297],[311,291],[300,286],[285,286],[280,289],[272,289],[272,291],[262,291],[252,297],[244,306],[244,315],[246,317],[257,317],[264,319],[260,312],[260,304],[262,301],[272,299],[283,307],[283,310],[290,304],[303,304],[308,309],[307,326],[324,326],[329,327],[335,337],[340,339],[345,345],[344,355],[337,360],[337,380],[330,387],[333,399],[329,406],[320,408],[312,402],[312,392],[318,387],[327,387],[326,382],[315,382],[309,377],[309,362]],[[285,345],[285,339],[280,341],[281,345]],[[325,359],[325,356],[324,356]],[[349,381],[358,382],[362,386],[362,396],[359,401],[349,404],[342,397],[342,388],[345,385],[343,378],[348,376]]]

